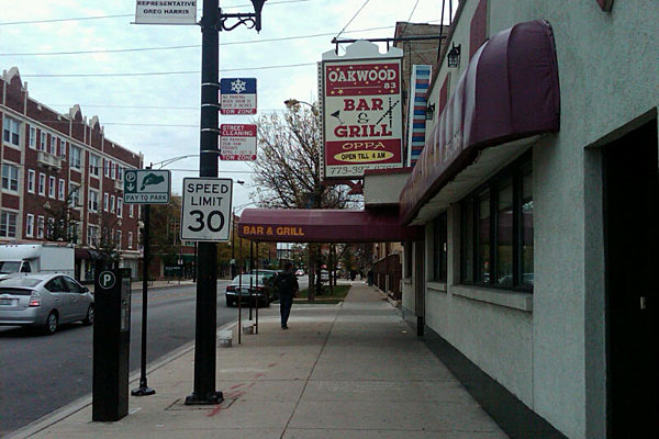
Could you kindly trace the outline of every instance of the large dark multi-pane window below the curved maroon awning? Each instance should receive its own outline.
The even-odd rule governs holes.
[[[532,189],[523,159],[461,202],[462,283],[533,288]]]

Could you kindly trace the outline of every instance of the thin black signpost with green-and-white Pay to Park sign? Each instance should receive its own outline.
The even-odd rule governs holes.
[[[139,386],[133,389],[133,396],[147,396],[156,393],[146,381],[146,327],[148,320],[148,267],[150,263],[150,207],[149,204],[167,204],[171,193],[171,175],[168,170],[127,169],[124,172],[124,203],[145,204],[144,206],[144,258],[142,263],[142,352],[139,361]]]

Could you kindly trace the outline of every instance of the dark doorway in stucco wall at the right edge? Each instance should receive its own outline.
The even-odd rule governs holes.
[[[607,431],[659,437],[657,121],[604,149]]]

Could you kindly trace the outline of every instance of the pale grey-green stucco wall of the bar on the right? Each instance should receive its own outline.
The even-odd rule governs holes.
[[[429,102],[447,71],[450,95],[467,66],[477,4],[466,0],[454,33],[460,68],[442,66]],[[533,313],[455,296],[449,284],[427,291],[426,322],[568,437],[605,437],[601,162],[585,147],[657,108],[659,3],[616,0],[605,13],[595,0],[489,0],[488,10],[489,35],[545,19],[556,40],[560,133],[533,148]]]

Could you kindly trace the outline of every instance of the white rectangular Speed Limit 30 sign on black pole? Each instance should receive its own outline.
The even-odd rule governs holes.
[[[181,240],[227,241],[233,180],[185,178]]]

